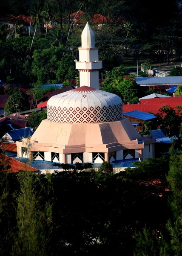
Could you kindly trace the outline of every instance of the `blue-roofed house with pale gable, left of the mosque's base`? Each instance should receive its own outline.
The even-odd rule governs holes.
[[[15,141],[28,138],[34,134],[34,131],[31,131],[31,128],[26,127],[22,129],[16,129],[16,130],[11,130],[7,131],[6,134],[2,137],[1,140],[9,142],[9,143],[14,143]]]

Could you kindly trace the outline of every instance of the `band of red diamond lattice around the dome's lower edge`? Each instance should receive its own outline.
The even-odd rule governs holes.
[[[63,109],[55,106],[47,106],[47,119],[50,122],[65,123],[93,123],[93,122],[113,122],[122,119],[122,104],[91,106],[90,108],[70,107]]]

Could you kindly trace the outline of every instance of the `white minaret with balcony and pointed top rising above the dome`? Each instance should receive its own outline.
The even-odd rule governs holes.
[[[86,85],[99,89],[99,69],[102,68],[102,61],[99,61],[99,48],[95,47],[94,31],[88,22],[82,31],[82,47],[78,49],[80,60],[75,62],[76,69],[80,71],[80,87]]]

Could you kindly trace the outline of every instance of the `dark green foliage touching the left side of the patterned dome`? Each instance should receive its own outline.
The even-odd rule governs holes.
[[[34,131],[40,123],[47,118],[47,111],[33,111],[31,115],[27,116],[27,127],[31,127]]]

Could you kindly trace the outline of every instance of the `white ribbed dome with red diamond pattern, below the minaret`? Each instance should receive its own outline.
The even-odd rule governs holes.
[[[47,119],[51,122],[91,123],[122,119],[119,96],[82,86],[52,96],[47,102]]]

